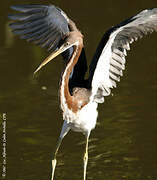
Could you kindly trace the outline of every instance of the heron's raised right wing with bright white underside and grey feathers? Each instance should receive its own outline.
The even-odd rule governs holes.
[[[129,44],[153,31],[157,31],[157,8],[144,10],[104,34],[90,65],[92,101],[104,102],[123,75]]]

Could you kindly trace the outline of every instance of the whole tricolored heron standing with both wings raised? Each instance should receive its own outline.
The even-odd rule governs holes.
[[[157,31],[157,8],[146,9],[110,28],[102,37],[89,66],[83,46],[83,35],[75,23],[53,5],[17,5],[12,9],[20,13],[9,15],[15,22],[10,24],[14,34],[22,39],[48,48],[51,54],[35,72],[62,54],[66,67],[60,83],[60,103],[63,126],[52,160],[52,179],[56,167],[56,155],[64,136],[71,129],[86,137],[84,175],[88,162],[88,139],[96,126],[98,103],[116,87],[125,69],[126,50],[129,44],[148,32]]]

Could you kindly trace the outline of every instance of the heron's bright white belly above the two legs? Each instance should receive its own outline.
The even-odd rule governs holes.
[[[90,133],[96,126],[98,117],[97,103],[90,102],[85,105],[77,114],[77,118],[73,119],[69,125],[73,131]]]

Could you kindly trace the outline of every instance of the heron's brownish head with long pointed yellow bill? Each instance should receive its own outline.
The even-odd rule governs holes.
[[[61,47],[54,52],[52,52],[41,64],[40,66],[35,70],[34,74],[38,72],[43,66],[45,66],[48,62],[50,62],[52,59],[54,59],[59,54],[63,53],[67,49],[69,49],[72,46],[78,46],[80,43],[83,44],[83,35],[78,31],[72,31],[68,34],[68,36],[65,38],[64,43],[61,45]]]

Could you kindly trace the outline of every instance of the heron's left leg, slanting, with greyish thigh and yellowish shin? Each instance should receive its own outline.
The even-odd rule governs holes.
[[[64,121],[63,126],[62,126],[62,131],[61,131],[61,134],[59,136],[56,149],[54,151],[54,158],[52,160],[52,176],[51,176],[51,180],[54,179],[54,173],[55,173],[55,168],[56,168],[56,164],[57,164],[56,156],[57,156],[59,147],[61,145],[61,142],[62,142],[64,136],[68,133],[69,130],[70,130],[70,127],[68,126],[68,123],[66,121]]]

